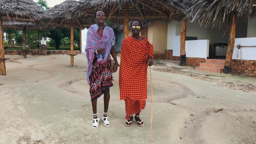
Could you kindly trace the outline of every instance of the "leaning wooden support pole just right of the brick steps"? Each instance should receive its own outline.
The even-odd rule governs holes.
[[[236,38],[236,14],[232,17],[232,23],[230,26],[230,32],[229,32],[229,40],[228,40],[228,51],[226,54],[226,61],[223,73],[229,74],[230,73],[230,66],[232,62],[232,56],[234,51],[234,45],[235,45],[235,38]]]

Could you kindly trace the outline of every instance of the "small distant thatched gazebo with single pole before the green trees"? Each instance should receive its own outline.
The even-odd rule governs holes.
[[[23,33],[23,58],[26,57],[26,30],[46,30],[51,27],[46,23],[19,22],[8,20],[3,22],[3,26],[8,29],[22,30]]]

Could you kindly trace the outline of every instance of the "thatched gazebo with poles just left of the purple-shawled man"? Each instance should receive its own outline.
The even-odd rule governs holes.
[[[71,12],[76,11],[80,3],[76,0],[65,0],[61,4],[58,4],[48,10],[50,15],[53,17],[51,24],[60,27],[70,27],[70,66],[74,66],[74,27],[80,28],[80,52],[82,51],[81,43],[81,35],[82,29],[84,27],[88,27],[91,23],[85,18],[79,18],[78,16],[74,16],[70,14]]]

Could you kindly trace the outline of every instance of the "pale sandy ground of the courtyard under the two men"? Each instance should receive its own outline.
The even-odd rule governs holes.
[[[150,143],[149,75],[144,127],[124,125],[116,72],[111,126],[100,120],[93,129],[84,55],[75,56],[74,67],[67,55],[6,58],[11,60],[6,61],[7,75],[0,76],[0,144]],[[256,144],[256,78],[181,68],[177,61],[154,62],[154,144]],[[98,114],[102,117],[103,96]]]

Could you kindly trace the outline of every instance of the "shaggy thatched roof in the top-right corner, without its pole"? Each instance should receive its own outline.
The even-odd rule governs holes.
[[[256,17],[256,0],[191,0],[190,5],[188,19],[212,28],[227,25],[233,14]]]

